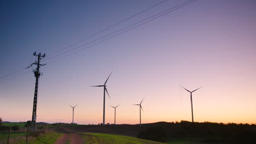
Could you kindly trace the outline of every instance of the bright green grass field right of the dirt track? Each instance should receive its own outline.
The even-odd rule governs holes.
[[[161,144],[161,142],[137,139],[130,136],[108,134],[83,134],[86,144]]]

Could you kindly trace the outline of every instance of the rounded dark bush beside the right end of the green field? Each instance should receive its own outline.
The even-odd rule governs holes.
[[[151,141],[167,142],[167,131],[162,127],[149,128],[146,131],[141,131],[138,134],[139,139],[146,139]]]

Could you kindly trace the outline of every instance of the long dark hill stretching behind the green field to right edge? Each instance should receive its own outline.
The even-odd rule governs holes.
[[[157,122],[142,124],[142,127],[130,124],[59,125],[59,130],[125,135],[160,142],[250,143],[256,139],[256,126],[254,124],[235,123]]]

